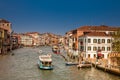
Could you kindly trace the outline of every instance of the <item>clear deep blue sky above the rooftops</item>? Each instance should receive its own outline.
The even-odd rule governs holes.
[[[64,35],[81,26],[120,26],[120,0],[0,0],[0,18],[16,33]]]

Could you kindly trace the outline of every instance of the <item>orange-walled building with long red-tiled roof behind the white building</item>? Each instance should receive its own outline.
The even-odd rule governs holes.
[[[114,31],[116,31],[117,29],[118,29],[117,27],[109,27],[109,26],[105,26],[105,25],[101,25],[101,26],[81,26],[77,29],[66,32],[66,36],[68,38],[68,45],[71,44],[73,49],[78,49],[78,47],[79,47],[78,37],[83,35],[84,33],[106,32],[108,34],[111,34]],[[70,39],[72,41],[70,41]],[[69,46],[69,47],[71,47],[71,46]]]

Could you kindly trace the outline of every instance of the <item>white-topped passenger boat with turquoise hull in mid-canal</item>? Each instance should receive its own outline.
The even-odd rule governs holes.
[[[40,69],[43,69],[43,70],[52,70],[53,65],[52,65],[51,54],[40,55],[39,61],[38,61],[38,66]]]

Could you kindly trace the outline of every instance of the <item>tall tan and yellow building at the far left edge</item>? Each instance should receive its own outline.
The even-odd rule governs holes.
[[[7,53],[10,46],[11,23],[0,19],[0,53]]]

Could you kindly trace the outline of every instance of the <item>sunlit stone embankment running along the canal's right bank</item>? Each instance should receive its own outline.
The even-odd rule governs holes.
[[[71,58],[71,53],[68,51],[67,52],[68,57],[70,57],[70,59],[72,59],[74,61],[73,58]],[[80,60],[79,57],[80,55],[78,55],[78,60]],[[93,67],[95,67],[96,69],[100,69],[103,70],[105,72],[111,73],[111,74],[115,74],[120,76],[120,66],[115,66],[113,64],[108,64],[108,60],[107,59],[84,59],[85,61],[91,62]],[[79,62],[79,61],[78,61]],[[97,63],[96,63],[97,62]]]

